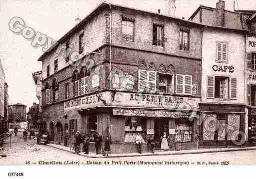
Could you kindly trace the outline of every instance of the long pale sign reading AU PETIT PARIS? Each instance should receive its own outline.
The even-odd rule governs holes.
[[[199,110],[198,103],[200,103],[200,98],[116,92],[111,103],[113,106]]]

